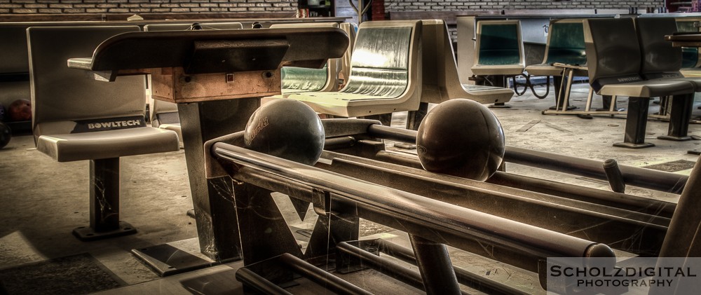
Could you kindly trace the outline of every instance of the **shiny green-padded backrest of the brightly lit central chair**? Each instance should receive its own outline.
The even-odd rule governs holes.
[[[400,97],[421,85],[421,21],[362,22],[351,56],[351,74],[340,92]]]

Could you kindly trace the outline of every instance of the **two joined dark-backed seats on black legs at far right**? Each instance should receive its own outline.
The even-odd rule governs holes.
[[[663,39],[676,32],[674,18],[591,19],[584,24],[592,88],[601,95],[629,97],[624,142],[615,146],[653,146],[644,142],[651,97],[674,96],[669,132],[660,139],[688,139],[698,88],[693,78],[679,73],[681,48]]]

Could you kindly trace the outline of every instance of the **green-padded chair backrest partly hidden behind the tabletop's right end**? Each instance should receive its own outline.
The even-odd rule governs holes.
[[[312,27],[339,27],[338,22],[297,22],[279,23],[274,28],[304,29]],[[329,59],[322,69],[304,67],[283,67],[280,69],[283,92],[299,91],[334,91],[338,89],[340,62],[337,58]]]

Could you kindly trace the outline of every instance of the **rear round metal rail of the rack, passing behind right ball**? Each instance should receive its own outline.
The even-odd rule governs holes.
[[[367,128],[367,132],[369,135],[379,138],[416,143],[417,132],[414,130],[404,130],[383,125],[371,125]],[[604,168],[601,167],[601,162],[597,160],[564,156],[544,151],[533,151],[517,148],[515,146],[506,146],[504,160],[515,164],[608,180],[606,179]],[[686,179],[688,179],[685,175],[641,167],[626,165],[619,165],[619,167],[623,175],[623,180],[627,184],[639,186],[641,188],[666,191],[668,193],[681,193],[684,184],[686,184]]]

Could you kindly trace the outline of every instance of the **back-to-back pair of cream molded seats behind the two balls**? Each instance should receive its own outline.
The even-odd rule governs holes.
[[[407,127],[415,129],[421,122],[419,110],[428,109],[429,103],[454,98],[503,103],[513,93],[460,83],[447,25],[442,20],[407,20],[360,25],[351,73],[341,90],[283,94],[264,102],[287,97],[306,102],[320,114],[342,117],[411,111],[414,116]]]

